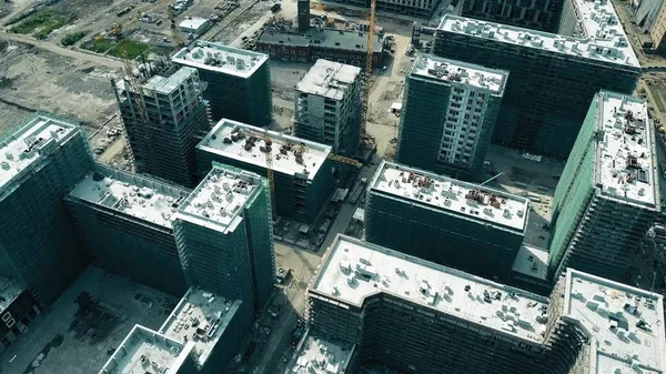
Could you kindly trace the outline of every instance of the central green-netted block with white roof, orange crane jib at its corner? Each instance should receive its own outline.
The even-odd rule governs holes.
[[[269,154],[276,214],[315,221],[335,188],[331,146],[231,120],[218,122],[196,145],[202,175],[220,162],[265,176]]]

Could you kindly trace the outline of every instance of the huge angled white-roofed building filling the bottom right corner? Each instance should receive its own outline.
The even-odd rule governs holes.
[[[665,370],[663,296],[574,270],[548,300],[339,235],[307,294],[311,331],[355,344],[362,363],[447,374]]]

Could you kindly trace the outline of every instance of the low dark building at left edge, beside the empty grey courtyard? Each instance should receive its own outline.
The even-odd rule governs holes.
[[[0,275],[0,355],[28,331],[40,313],[30,292],[19,282]]]

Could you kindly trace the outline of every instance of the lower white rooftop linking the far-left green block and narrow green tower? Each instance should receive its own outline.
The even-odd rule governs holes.
[[[182,186],[98,163],[69,196],[171,229],[171,219],[188,194]]]

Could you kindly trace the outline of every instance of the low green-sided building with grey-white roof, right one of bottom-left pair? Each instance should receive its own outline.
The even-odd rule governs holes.
[[[250,313],[242,313],[241,300],[228,300],[192,287],[169,315],[160,333],[194,343],[198,374],[218,374],[240,350],[252,325]]]

